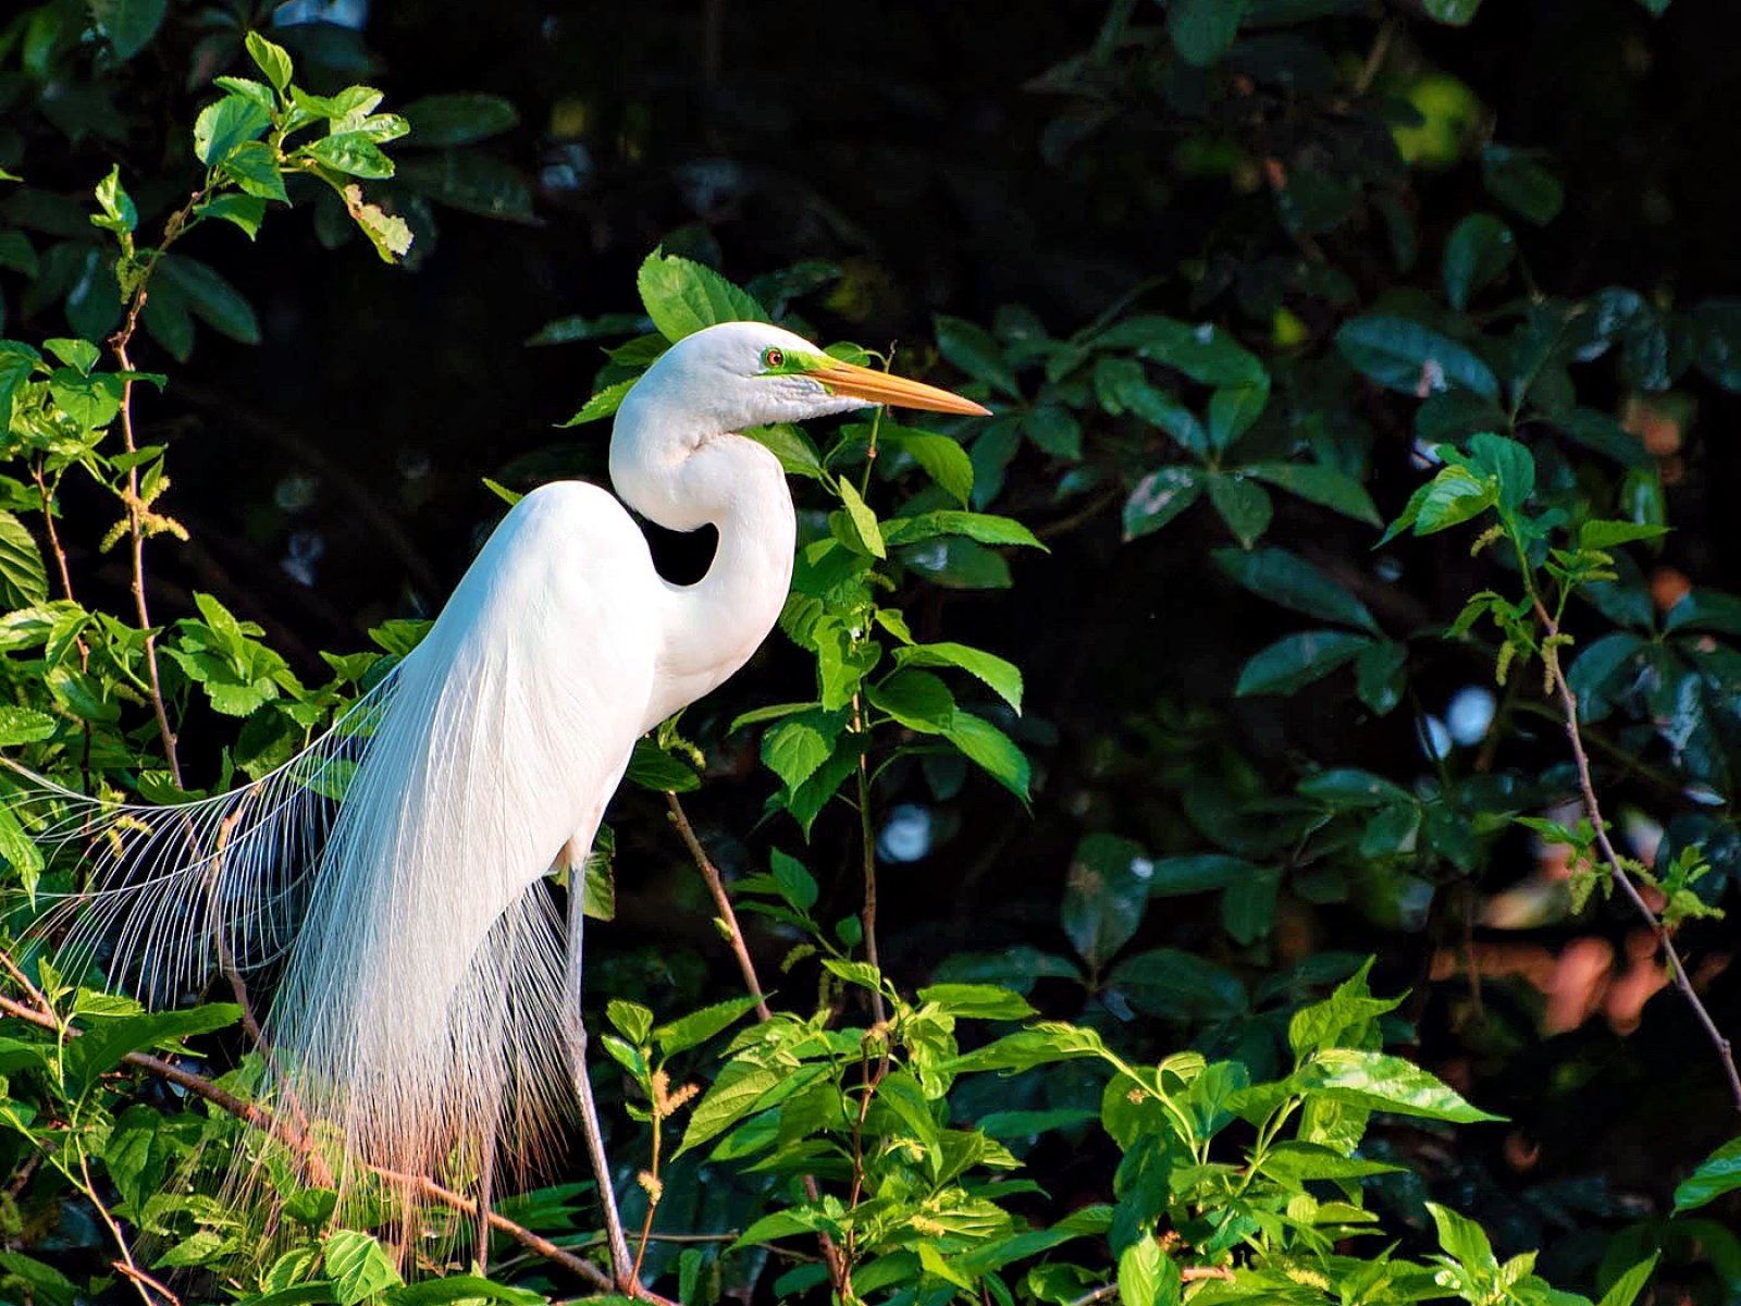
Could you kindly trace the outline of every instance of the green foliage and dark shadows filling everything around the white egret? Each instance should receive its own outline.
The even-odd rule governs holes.
[[[1670,151],[1633,132],[1668,92],[1626,82],[1678,49],[1659,31],[1727,45],[1685,40],[1691,3],[1661,26],[1666,3],[1579,7],[1588,49],[1551,5],[1502,9],[1112,0],[971,37],[928,10],[935,47],[898,9],[830,16],[846,49],[1010,40],[966,89],[945,57],[865,57],[844,118],[770,108],[827,80],[783,10],[728,7],[724,54],[665,10],[540,16],[561,57],[514,28],[512,57],[481,37],[427,70],[247,3],[3,19],[0,745],[117,798],[245,784],[421,637],[383,618],[439,603],[454,524],[500,512],[484,474],[507,502],[601,477],[587,423],[714,320],[851,336],[829,352],[994,416],[752,432],[801,512],[780,636],[641,744],[629,780],[655,794],[625,792],[578,886],[618,918],[588,939],[588,1015],[630,1233],[712,1236],[649,1242],[649,1283],[684,1306],[1734,1297],[1722,1064],[1682,994],[1617,1003],[1661,966],[1642,905],[1734,1022],[1741,312],[1675,258],[1711,219],[1650,218]],[[1530,75],[1563,64],[1600,148],[1471,54],[1537,23],[1562,37]],[[662,59],[667,85],[724,78],[707,115],[613,80]],[[336,252],[299,251],[308,230]],[[507,249],[536,251],[536,312]],[[498,273],[500,298],[458,289]],[[268,416],[232,430],[214,385]],[[514,402],[507,460],[479,446]],[[334,590],[362,620],[178,552],[240,559],[301,521],[313,491],[230,444],[299,404],[313,427],[357,409],[327,453],[286,448],[385,545],[350,540],[385,582]],[[178,448],[198,413],[221,449]],[[435,427],[467,470],[400,472]],[[440,569],[397,526],[427,503]],[[766,1020],[667,834],[677,794]],[[148,1013],[101,965],[61,975],[23,928],[78,858],[31,834],[0,801],[0,1299],[125,1297],[125,1256],[190,1303],[573,1296],[571,1264],[500,1235],[467,1273],[451,1205],[402,1240],[373,1181],[341,1200],[211,1095],[258,1071],[228,986]],[[1588,991],[1612,1029],[1506,968],[1609,937],[1635,961]],[[270,1202],[214,1196],[239,1151]],[[440,1179],[470,1193],[468,1167]],[[583,1182],[498,1210],[601,1256]]]

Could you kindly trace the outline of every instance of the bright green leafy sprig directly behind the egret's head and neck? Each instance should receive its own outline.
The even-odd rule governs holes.
[[[608,352],[611,364],[599,373],[597,394],[568,425],[615,413],[641,371],[691,331],[770,320],[770,305],[750,291],[663,251],[648,256],[637,286],[653,331]],[[804,327],[803,320],[787,320]],[[629,324],[641,320],[622,315],[606,326]],[[545,338],[562,338],[552,327]],[[827,353],[860,366],[872,360],[850,343],[829,345]],[[881,362],[886,367],[890,360]],[[780,615],[780,630],[815,658],[817,697],[759,707],[733,723],[733,730],[771,723],[761,740],[761,757],[782,785],[771,808],[787,811],[808,836],[848,780],[860,778],[850,799],[865,808],[869,784],[904,757],[926,763],[933,785],[949,792],[961,787],[959,761],[966,759],[1027,799],[1029,759],[991,719],[1022,710],[1020,670],[980,648],[916,639],[888,596],[909,576],[961,589],[1008,585],[1008,564],[996,549],[1043,545],[1010,517],[968,508],[973,463],[954,437],[886,421],[883,409],[870,421],[839,427],[825,451],[789,423],[745,434],[766,446],[789,475],[813,482],[827,502],[801,517],[792,594]],[[912,477],[921,484],[893,512],[879,515],[867,502],[872,474],[884,484],[902,486]],[[991,695],[985,707],[968,710],[938,670],[965,674],[971,693]],[[881,747],[883,738],[891,744]],[[660,787],[670,787],[670,780]]]

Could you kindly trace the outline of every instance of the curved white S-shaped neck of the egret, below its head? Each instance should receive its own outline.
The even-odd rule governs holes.
[[[662,407],[623,404],[611,481],[649,521],[677,531],[714,526],[719,545],[695,585],[663,585],[663,651],[642,730],[749,662],[785,606],[797,540],[792,495],[768,449],[742,435],[684,430],[695,416]]]

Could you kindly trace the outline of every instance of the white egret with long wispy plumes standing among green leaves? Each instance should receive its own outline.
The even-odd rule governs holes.
[[[113,970],[158,996],[282,954],[265,1022],[280,1087],[352,1163],[420,1175],[475,1158],[487,1191],[498,1146],[534,1149],[576,1092],[630,1287],[585,1074],[581,895],[564,940],[543,881],[583,864],[635,740],[742,667],[780,613],[792,498],[736,432],[872,404],[985,413],[766,324],[672,345],[623,399],[611,481],[660,526],[717,528],[700,582],[662,580],[604,489],[533,491],[423,643],[261,782],[179,806],[54,789],[49,838],[92,858],[73,937],[110,940]]]

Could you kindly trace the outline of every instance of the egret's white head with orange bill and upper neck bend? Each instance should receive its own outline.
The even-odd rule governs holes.
[[[768,322],[721,322],[665,350],[623,397],[611,437],[611,481],[644,515],[691,529],[710,519],[712,507],[693,498],[679,503],[686,496],[679,467],[698,449],[750,427],[808,421],[876,404],[989,413],[935,385],[832,359],[803,336]],[[750,446],[749,441],[742,444]],[[750,448],[773,465],[771,454]],[[693,475],[682,481],[693,482]]]

